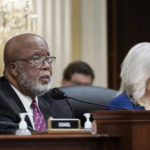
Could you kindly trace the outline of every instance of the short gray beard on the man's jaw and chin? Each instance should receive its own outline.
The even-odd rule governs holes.
[[[33,93],[36,96],[44,95],[50,90],[51,87],[51,81],[49,81],[47,85],[42,85],[40,82],[34,81],[28,77],[25,71],[21,73],[19,81],[22,86],[24,86],[30,93]]]

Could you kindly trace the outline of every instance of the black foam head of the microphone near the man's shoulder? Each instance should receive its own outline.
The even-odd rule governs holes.
[[[53,88],[51,90],[50,95],[55,98],[55,99],[64,99],[67,98],[67,96],[65,96],[65,93],[61,90],[59,90],[58,88]]]

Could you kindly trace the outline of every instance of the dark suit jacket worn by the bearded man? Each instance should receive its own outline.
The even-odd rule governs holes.
[[[55,100],[50,91],[38,97],[40,110],[45,120],[54,118],[72,118],[72,111],[66,100]],[[20,122],[19,113],[26,112],[21,100],[5,77],[0,78],[0,134],[14,134]],[[29,129],[32,129],[29,117],[26,116]]]

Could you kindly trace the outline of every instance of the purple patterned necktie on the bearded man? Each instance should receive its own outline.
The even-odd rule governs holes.
[[[39,107],[35,100],[32,101],[31,108],[33,109],[33,122],[34,128],[36,131],[44,131],[47,129],[46,122],[42,112],[40,111]]]

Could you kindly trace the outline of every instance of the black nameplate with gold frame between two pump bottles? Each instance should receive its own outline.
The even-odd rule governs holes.
[[[49,119],[48,129],[80,129],[79,119]]]

